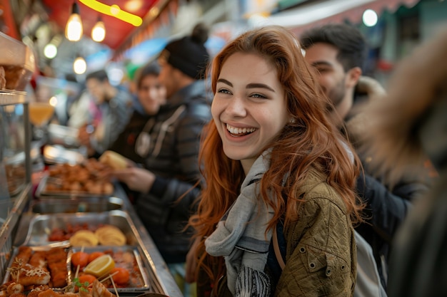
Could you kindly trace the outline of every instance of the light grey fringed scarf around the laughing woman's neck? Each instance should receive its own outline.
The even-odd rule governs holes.
[[[224,256],[228,288],[236,297],[271,293],[271,281],[263,270],[272,234],[266,228],[273,209],[259,195],[260,179],[269,166],[270,150],[266,150],[243,180],[241,194],[205,240],[211,256]]]

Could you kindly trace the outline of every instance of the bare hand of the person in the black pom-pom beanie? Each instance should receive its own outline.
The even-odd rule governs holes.
[[[127,184],[129,189],[141,193],[148,193],[155,181],[154,173],[139,167],[114,170],[112,176]]]

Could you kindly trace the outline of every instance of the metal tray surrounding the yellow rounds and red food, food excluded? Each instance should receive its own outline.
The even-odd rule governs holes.
[[[99,213],[36,214],[30,220],[23,245],[46,246],[54,244],[54,241],[49,241],[49,234],[53,229],[66,229],[67,226],[76,226],[76,224],[86,224],[91,229],[97,229],[98,226],[104,224],[116,226],[126,236],[127,245],[138,246],[138,231],[129,214],[121,210]]]

